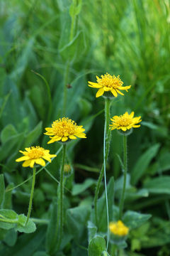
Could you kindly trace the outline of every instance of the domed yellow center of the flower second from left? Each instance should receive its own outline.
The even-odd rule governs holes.
[[[60,137],[68,136],[74,134],[76,125],[71,119],[63,117],[52,123],[52,132]]]

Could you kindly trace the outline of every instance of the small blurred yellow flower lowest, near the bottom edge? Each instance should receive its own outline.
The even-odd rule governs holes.
[[[116,223],[109,223],[109,230],[114,235],[125,236],[128,235],[129,228],[123,224],[122,220],[118,220]]]

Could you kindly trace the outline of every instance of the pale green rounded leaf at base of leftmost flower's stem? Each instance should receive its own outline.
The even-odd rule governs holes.
[[[24,232],[24,233],[33,233],[36,230],[36,225],[33,223],[33,220],[28,220],[27,225],[26,223],[27,217],[23,214],[18,215],[18,223],[15,227],[16,231]]]

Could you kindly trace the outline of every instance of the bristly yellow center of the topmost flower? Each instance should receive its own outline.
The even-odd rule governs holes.
[[[115,75],[110,75],[106,73],[106,75],[101,75],[101,78],[97,78],[97,82],[103,87],[112,87],[114,89],[123,85],[123,81],[120,80],[119,75],[115,77]]]

